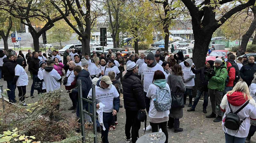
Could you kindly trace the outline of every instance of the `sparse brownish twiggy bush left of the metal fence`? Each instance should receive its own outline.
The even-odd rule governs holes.
[[[76,132],[79,127],[76,117],[68,118],[61,114],[64,109],[58,109],[59,104],[66,104],[66,99],[61,95],[63,91],[56,90],[39,94],[38,102],[27,104],[27,106],[5,104],[5,110],[0,114],[0,133],[18,127],[19,134],[35,136],[35,141],[81,142],[81,134]],[[93,142],[93,139],[88,142]]]

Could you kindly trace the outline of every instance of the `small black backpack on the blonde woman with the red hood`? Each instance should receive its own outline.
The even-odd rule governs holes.
[[[226,128],[231,129],[231,130],[237,130],[237,132],[238,132],[239,127],[241,126],[242,122],[246,118],[240,119],[239,116],[237,115],[237,113],[240,112],[249,103],[249,101],[250,100],[248,100],[245,104],[243,104],[243,106],[241,108],[239,108],[236,112],[232,111],[232,109],[230,107],[230,104],[228,102],[230,112],[228,114],[226,113],[226,118],[225,118],[225,121],[224,121],[225,132],[226,132]]]

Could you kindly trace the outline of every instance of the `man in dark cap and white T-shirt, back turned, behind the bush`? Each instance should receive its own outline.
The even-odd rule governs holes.
[[[60,88],[61,76],[57,70],[53,68],[54,61],[52,59],[47,61],[47,66],[43,70],[43,77],[45,81],[46,92],[58,90]]]

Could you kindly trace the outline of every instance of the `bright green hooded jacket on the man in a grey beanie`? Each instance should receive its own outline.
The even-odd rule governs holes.
[[[222,67],[222,68],[221,68]],[[211,77],[208,83],[208,89],[223,91],[225,88],[225,81],[228,76],[227,65],[215,67],[215,76]]]

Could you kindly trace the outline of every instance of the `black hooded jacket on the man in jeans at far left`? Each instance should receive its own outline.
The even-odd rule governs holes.
[[[4,75],[4,81],[13,81],[13,78],[15,76],[15,66],[14,62],[11,61],[9,58],[3,59],[3,75]]]

